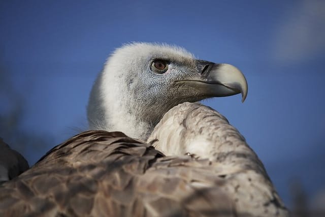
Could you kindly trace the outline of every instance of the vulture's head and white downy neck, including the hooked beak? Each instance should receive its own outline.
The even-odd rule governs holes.
[[[87,108],[89,126],[146,139],[179,103],[240,93],[244,101],[247,82],[232,65],[195,59],[176,46],[127,44],[108,58],[95,81]]]

